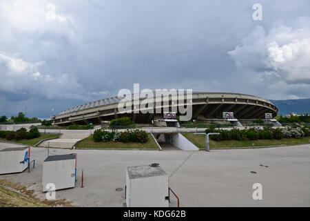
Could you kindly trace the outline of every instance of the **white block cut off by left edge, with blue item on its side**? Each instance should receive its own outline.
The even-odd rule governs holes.
[[[28,168],[28,146],[5,148],[0,151],[0,174],[21,173]]]

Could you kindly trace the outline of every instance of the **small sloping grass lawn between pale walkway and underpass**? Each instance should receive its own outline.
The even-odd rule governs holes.
[[[81,140],[78,144],[75,145],[75,148],[138,148],[138,149],[158,149],[152,135],[148,135],[149,140],[144,143],[136,143],[136,142],[94,142],[92,139],[92,135],[86,137]]]

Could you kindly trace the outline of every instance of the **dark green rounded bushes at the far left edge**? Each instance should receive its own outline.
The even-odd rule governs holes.
[[[6,140],[30,140],[40,136],[38,128],[30,128],[29,132],[25,128],[20,128],[17,131],[0,131],[0,137],[6,138]]]

